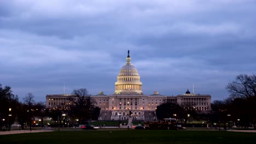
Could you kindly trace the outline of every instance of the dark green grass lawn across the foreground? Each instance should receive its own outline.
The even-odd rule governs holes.
[[[84,130],[0,135],[0,143],[255,143],[256,133],[192,130]]]

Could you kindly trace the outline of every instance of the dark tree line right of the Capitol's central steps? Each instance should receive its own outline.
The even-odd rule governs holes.
[[[224,100],[214,100],[211,111],[202,113],[195,110],[190,103],[178,105],[165,103],[157,107],[158,119],[174,117],[187,123],[189,119],[207,121],[216,127],[254,127],[256,124],[256,75],[241,74],[226,86],[229,97]],[[192,120],[192,121],[193,121]],[[228,125],[227,125],[228,123]],[[222,125],[222,126],[221,126]]]

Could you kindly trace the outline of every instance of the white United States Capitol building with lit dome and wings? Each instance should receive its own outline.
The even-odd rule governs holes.
[[[72,94],[46,95],[46,108],[56,109],[58,105],[71,105],[69,97]],[[101,108],[98,119],[109,121],[127,119],[129,112],[133,113],[132,119],[139,121],[152,121],[156,119],[156,107],[163,103],[177,103],[183,105],[193,104],[194,109],[207,113],[211,110],[210,94],[195,94],[189,90],[176,96],[161,95],[159,92],[143,94],[142,82],[138,70],[131,64],[130,52],[126,57],[125,65],[120,69],[115,82],[114,94],[106,95],[99,92],[90,96],[95,105]]]

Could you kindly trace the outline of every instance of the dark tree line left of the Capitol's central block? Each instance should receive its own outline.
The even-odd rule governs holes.
[[[36,102],[32,93],[27,93],[22,101],[18,95],[14,95],[11,87],[3,87],[0,84],[0,130],[10,130],[14,122],[20,124],[20,129],[35,126],[35,119],[40,119],[39,126],[44,126],[44,118],[50,117],[60,127],[68,127],[68,124],[79,124],[89,119],[97,119],[100,108],[95,106],[95,101],[90,98],[86,88],[74,89],[72,102],[68,108],[58,105],[56,109],[46,109],[45,103]],[[55,124],[56,125],[56,124]]]

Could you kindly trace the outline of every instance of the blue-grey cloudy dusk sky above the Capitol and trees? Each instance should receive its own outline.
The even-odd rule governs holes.
[[[126,62],[144,94],[211,94],[256,71],[256,1],[0,0],[0,83],[20,100],[114,93]]]

